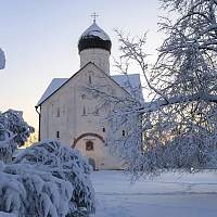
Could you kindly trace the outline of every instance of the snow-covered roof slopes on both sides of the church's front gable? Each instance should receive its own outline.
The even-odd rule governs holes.
[[[143,94],[141,90],[141,81],[139,74],[113,75],[111,76],[111,78],[113,78],[120,87],[123,87],[130,94],[132,95],[137,94],[140,101],[143,102]],[[43,103],[68,79],[69,78],[53,78],[36,106],[39,106],[41,103]]]

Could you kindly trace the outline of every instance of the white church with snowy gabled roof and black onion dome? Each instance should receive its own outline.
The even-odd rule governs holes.
[[[78,149],[95,169],[122,168],[106,146],[106,116],[112,105],[101,106],[101,98],[88,94],[86,87],[102,87],[107,94],[129,97],[128,79],[132,88],[140,88],[140,76],[110,73],[112,41],[95,21],[78,41],[80,69],[69,78],[53,78],[38,101],[39,140],[59,139]],[[125,136],[125,129],[120,129]]]

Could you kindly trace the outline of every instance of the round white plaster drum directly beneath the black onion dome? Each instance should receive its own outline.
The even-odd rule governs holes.
[[[80,53],[80,68],[92,62],[107,75],[110,74],[110,52],[104,49],[86,49]]]

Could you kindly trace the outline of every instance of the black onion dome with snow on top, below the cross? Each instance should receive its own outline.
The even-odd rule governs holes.
[[[78,41],[78,50],[81,52],[85,49],[101,48],[111,52],[112,41],[107,34],[93,23],[84,34]]]

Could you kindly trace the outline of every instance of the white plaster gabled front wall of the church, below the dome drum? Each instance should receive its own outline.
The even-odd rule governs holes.
[[[88,97],[85,87],[91,82],[100,85],[107,93],[115,93],[117,97],[127,95],[117,84],[97,68],[93,64],[88,64],[85,68],[78,72],[67,84],[59,91],[51,95],[41,105],[41,140],[56,139],[56,131],[60,131],[60,140],[73,146],[75,139],[82,133],[98,133],[103,139],[106,138],[106,131],[103,132],[103,127],[106,130],[104,118],[110,112],[110,106],[102,107],[99,115],[95,115],[95,106],[100,99]],[[84,99],[81,95],[86,94]],[[86,115],[82,114],[84,106]],[[60,108],[60,117],[56,117],[56,110]],[[94,142],[94,151],[86,151],[86,141],[90,139]],[[76,149],[80,150],[84,155],[95,161],[98,169],[118,169],[122,167],[119,159],[110,155],[105,144],[95,137],[84,137],[76,143]]]

